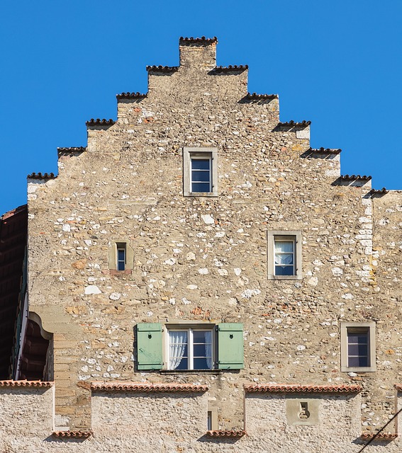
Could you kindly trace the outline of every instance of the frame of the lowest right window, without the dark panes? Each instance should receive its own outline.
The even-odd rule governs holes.
[[[366,332],[368,343],[367,367],[349,366],[348,333]],[[340,324],[340,371],[341,372],[375,372],[376,371],[376,323],[369,322],[342,322]]]

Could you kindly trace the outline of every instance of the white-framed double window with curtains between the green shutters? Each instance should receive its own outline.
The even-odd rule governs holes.
[[[213,328],[169,328],[168,369],[213,369]]]

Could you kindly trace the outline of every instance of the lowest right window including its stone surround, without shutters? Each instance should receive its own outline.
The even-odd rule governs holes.
[[[341,371],[376,370],[375,323],[341,323]]]

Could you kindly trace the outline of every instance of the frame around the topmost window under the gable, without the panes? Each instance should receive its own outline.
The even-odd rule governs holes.
[[[192,161],[209,159],[209,192],[192,191]],[[184,197],[218,196],[218,148],[184,147],[183,148],[183,195]]]

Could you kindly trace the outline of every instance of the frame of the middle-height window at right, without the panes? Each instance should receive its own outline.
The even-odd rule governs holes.
[[[275,243],[292,241],[294,243],[294,274],[276,275]],[[267,273],[269,280],[301,280],[302,277],[302,236],[301,231],[268,230],[267,231]]]

